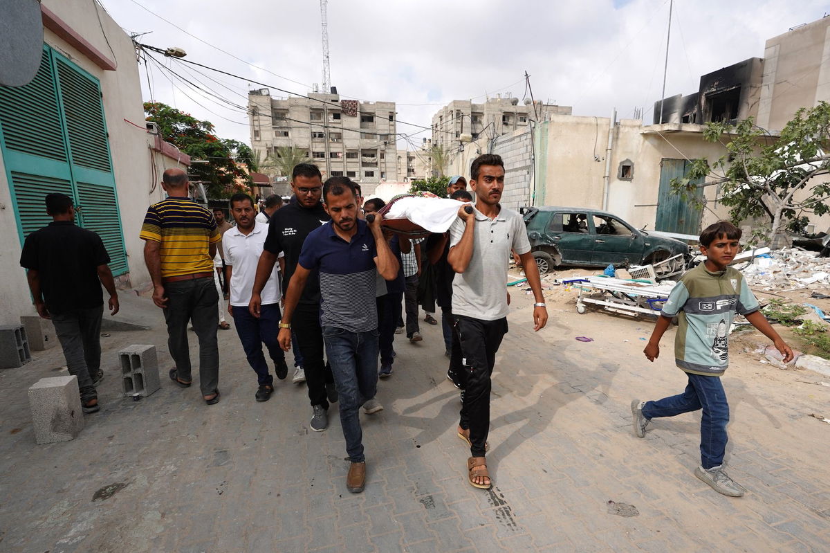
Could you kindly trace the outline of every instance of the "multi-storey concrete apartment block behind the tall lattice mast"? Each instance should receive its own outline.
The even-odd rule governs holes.
[[[261,159],[292,146],[308,153],[324,179],[345,176],[361,184],[398,179],[394,102],[308,96],[272,98],[268,89],[248,94],[251,148]]]

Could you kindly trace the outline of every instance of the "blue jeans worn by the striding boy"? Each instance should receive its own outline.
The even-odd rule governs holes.
[[[701,465],[709,469],[720,467],[726,451],[726,423],[729,423],[729,404],[720,376],[686,374],[689,384],[682,394],[657,401],[647,401],[642,406],[645,418],[674,417],[703,409],[701,419]]]

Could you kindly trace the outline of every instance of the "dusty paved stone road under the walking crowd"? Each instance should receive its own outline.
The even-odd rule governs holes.
[[[396,344],[395,372],[379,383],[386,409],[361,414],[369,474],[357,495],[345,490],[336,408],[330,429],[315,433],[304,388],[278,383],[257,404],[233,331],[220,332],[222,401],[212,407],[166,370],[156,394],[120,398],[120,348],[157,344],[169,366],[160,313],[154,330],[102,338],[104,408],[74,441],[44,446],[26,389],[59,374],[63,359],[37,352],[0,371],[0,551],[830,550],[830,426],[807,416],[828,409],[830,390],[790,373],[785,384],[765,379],[770,369],[757,363],[730,368],[726,461],[749,492],[722,497],[692,474],[699,417],[632,435],[632,397],[685,384],[670,360],[642,360],[650,323],[554,311],[535,335],[527,301],[515,303],[496,365],[489,492],[465,480],[440,326],[424,324],[421,344]],[[147,311],[147,300],[129,307]],[[611,325],[630,340],[605,339]],[[114,493],[94,500],[102,488]]]

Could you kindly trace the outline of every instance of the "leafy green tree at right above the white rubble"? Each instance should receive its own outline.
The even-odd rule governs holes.
[[[732,220],[769,220],[775,246],[786,231],[803,232],[810,214],[830,212],[830,183],[814,178],[830,171],[830,104],[802,108],[774,139],[752,118],[732,126],[709,123],[703,138],[720,142],[726,153],[712,162],[696,159],[683,179],[672,188],[689,201],[702,205],[696,188],[720,184],[720,203],[730,208]],[[704,184],[694,184],[696,179]]]

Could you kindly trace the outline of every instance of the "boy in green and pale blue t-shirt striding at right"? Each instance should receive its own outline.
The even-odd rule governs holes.
[[[759,311],[758,301],[743,275],[728,267],[740,251],[740,234],[740,229],[729,221],[719,221],[703,231],[700,242],[706,261],[686,272],[671,291],[652,338],[643,350],[649,361],[656,360],[660,355],[660,339],[671,319],[677,316],[675,358],[676,365],[689,378],[686,391],[657,401],[634,399],[631,402],[632,423],[638,438],[645,437],[646,425],[652,418],[702,409],[701,466],[695,469],[695,476],[715,492],[731,497],[743,496],[745,492],[722,467],[729,404],[720,376],[729,365],[727,334],[735,313],[745,316],[773,340],[773,345],[784,355],[784,363],[793,359],[793,350]]]

